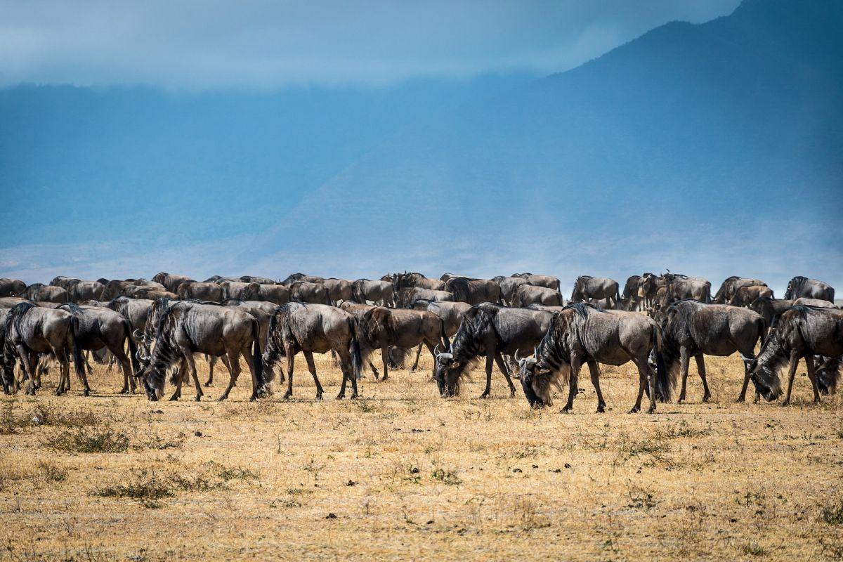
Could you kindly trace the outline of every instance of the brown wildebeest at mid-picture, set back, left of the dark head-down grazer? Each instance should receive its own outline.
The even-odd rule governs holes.
[[[374,307],[363,313],[358,326],[360,349],[365,360],[375,350],[381,351],[384,361],[384,381],[389,377],[389,347],[411,349],[416,345],[427,345],[433,355],[437,345],[442,345],[442,318],[425,310],[406,308]],[[416,361],[411,367],[418,367],[421,347],[416,351]],[[434,356],[435,358],[435,356]],[[375,374],[377,378],[377,373]]]

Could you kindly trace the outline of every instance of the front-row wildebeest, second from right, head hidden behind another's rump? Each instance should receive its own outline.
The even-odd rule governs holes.
[[[702,379],[702,401],[711,399],[706,381],[704,356],[728,357],[738,351],[744,360],[744,373],[749,373],[755,356],[755,344],[764,343],[767,324],[759,313],[749,308],[728,304],[706,304],[691,299],[674,302],[665,311],[662,324],[664,363],[668,368],[671,386],[682,377],[679,402],[685,400],[688,382],[688,363],[696,361],[696,370]],[[739,400],[744,399],[746,384]]]

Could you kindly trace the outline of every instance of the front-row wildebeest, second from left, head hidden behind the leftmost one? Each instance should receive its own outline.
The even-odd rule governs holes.
[[[137,347],[132,339],[132,324],[121,313],[110,308],[91,307],[78,304],[62,304],[59,307],[79,319],[76,345],[83,351],[99,351],[103,348],[115,356],[123,370],[123,388],[120,393],[135,393],[133,373],[140,370],[137,363]],[[129,356],[125,345],[128,342]],[[130,362],[131,357],[131,362]]]

